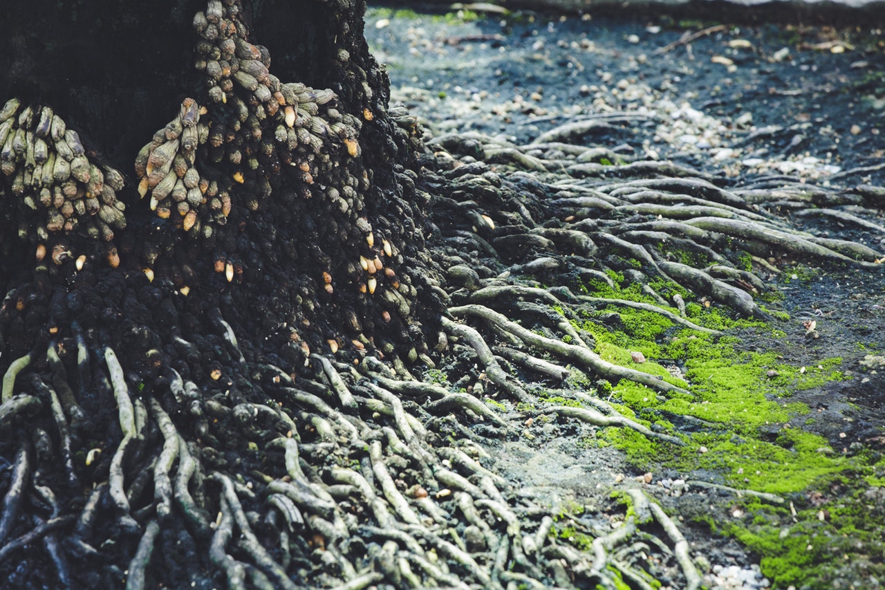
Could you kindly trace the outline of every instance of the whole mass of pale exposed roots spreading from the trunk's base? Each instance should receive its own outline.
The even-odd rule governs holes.
[[[216,8],[220,3],[210,2],[207,12]],[[417,136],[406,115],[391,110],[390,117]],[[655,572],[635,554],[650,540],[666,547],[662,559],[678,566],[680,587],[699,587],[687,541],[645,491],[628,489],[633,509],[620,526],[588,531],[591,546],[581,547],[551,534],[559,507],[496,473],[484,441],[518,437],[527,417],[543,414],[684,444],[679,431],[653,431],[596,390],[567,383],[577,370],[643,385],[652,395],[690,395],[690,384],[650,375],[642,361],[606,361],[575,320],[602,322],[605,310],[632,307],[680,329],[716,334],[685,317],[686,298],[765,316],[754,296],[766,283],[754,270],[776,270],[787,256],[864,268],[881,260],[864,245],[792,229],[774,212],[808,202],[837,207],[840,198],[853,198],[859,208],[852,213],[821,211],[881,228],[860,222],[863,195],[783,183],[775,191],[761,181],[727,186],[670,162],[604,165],[596,160],[608,152],[566,143],[636,118],[568,121],[527,146],[481,134],[441,136],[435,146],[469,157],[427,152],[420,177],[397,173],[396,182],[413,186],[431,209],[435,243],[416,246],[414,260],[440,268],[445,280],[427,277],[420,296],[450,305],[443,317],[420,318],[427,326],[414,338],[427,338],[436,353],[412,345],[409,330],[421,331],[412,318],[417,291],[405,282],[400,289],[396,273],[381,263],[381,252],[394,258],[391,246],[374,245],[371,230],[360,231],[359,247],[367,240],[377,251],[377,267],[362,257],[364,275],[354,255],[348,272],[366,279],[358,283],[361,296],[381,288],[382,274],[390,288],[360,307],[366,317],[329,322],[350,322],[355,338],[347,349],[337,336],[308,344],[298,330],[305,338],[316,334],[300,311],[297,328],[275,321],[244,327],[242,318],[250,316],[232,298],[176,323],[187,293],[173,283],[151,285],[142,269],[93,276],[97,286],[88,290],[74,285],[73,299],[119,291],[115,300],[89,301],[85,330],[48,312],[17,314],[29,293],[50,303],[69,296],[42,292],[50,271],[35,270],[33,284],[4,299],[0,317],[0,335],[13,324],[20,331],[26,319],[59,334],[2,359],[0,570],[9,584],[646,588],[655,587]],[[347,144],[350,156],[355,145]],[[399,227],[384,221],[385,228]],[[397,229],[396,237],[405,244],[404,232]],[[753,263],[739,266],[747,254]],[[234,265],[219,261],[232,283]],[[324,298],[337,288],[326,275],[318,290]],[[590,284],[613,289],[613,277],[654,303],[581,292]],[[281,273],[270,283],[288,281]],[[319,301],[305,307],[321,309]],[[373,324],[387,325],[390,311],[391,325],[403,332],[390,337],[396,345],[363,333],[361,322],[374,314]],[[172,328],[165,326],[170,318]],[[406,325],[407,318],[416,323]],[[3,338],[0,345],[5,353]],[[452,358],[475,364],[475,371],[458,379],[436,369],[444,378],[431,383],[427,367]],[[446,384],[448,377],[458,385]],[[546,403],[539,390],[580,407]],[[667,540],[654,535],[652,521]],[[24,555],[25,547],[42,562]],[[22,567],[10,565],[19,557]],[[39,571],[38,562],[53,563],[55,571]]]

